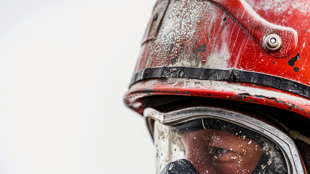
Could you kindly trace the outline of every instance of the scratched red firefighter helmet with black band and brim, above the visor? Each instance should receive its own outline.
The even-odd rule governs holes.
[[[124,102],[141,115],[179,100],[241,102],[308,121],[309,19],[308,0],[157,0]]]

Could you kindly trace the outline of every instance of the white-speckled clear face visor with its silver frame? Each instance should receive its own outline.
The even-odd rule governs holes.
[[[292,139],[256,118],[208,107],[144,115],[157,174],[305,174]]]

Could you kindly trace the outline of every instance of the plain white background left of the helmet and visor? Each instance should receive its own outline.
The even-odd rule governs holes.
[[[0,174],[152,174],[128,89],[155,0],[0,1]]]

